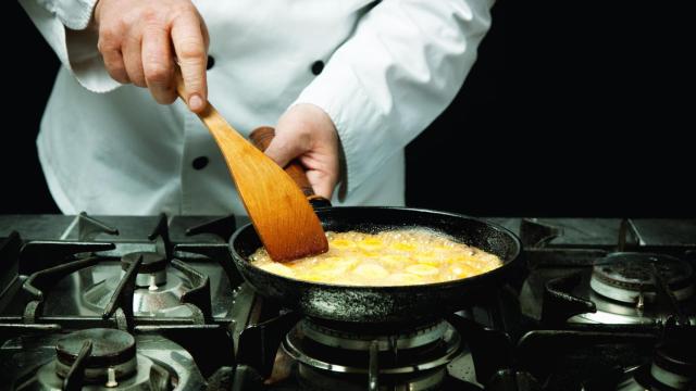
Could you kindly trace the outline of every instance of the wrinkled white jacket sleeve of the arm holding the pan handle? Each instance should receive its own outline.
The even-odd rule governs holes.
[[[384,0],[293,103],[333,119],[350,194],[452,101],[490,25],[493,0]]]

